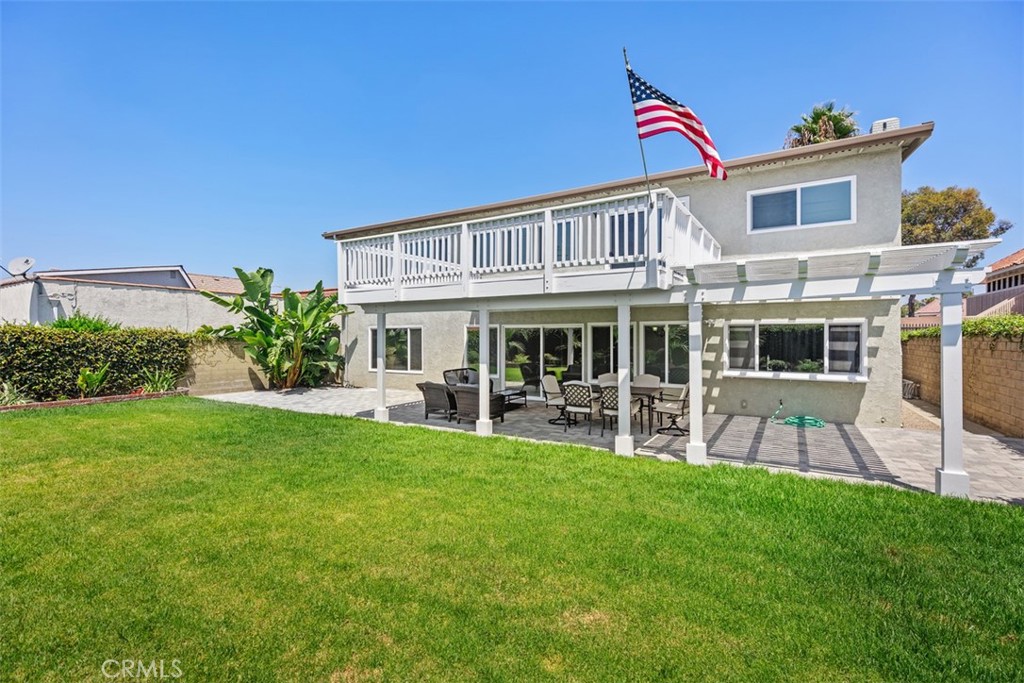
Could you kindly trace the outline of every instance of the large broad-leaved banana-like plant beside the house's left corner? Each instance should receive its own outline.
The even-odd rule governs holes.
[[[259,366],[274,388],[317,386],[338,372],[341,357],[339,328],[334,318],[346,311],[337,295],[325,295],[324,283],[316,283],[305,297],[285,289],[275,300],[271,294],[273,270],[257,268],[246,272],[234,268],[245,293],[224,299],[212,292],[203,296],[245,322],[209,330],[214,336],[238,339],[245,352]]]

